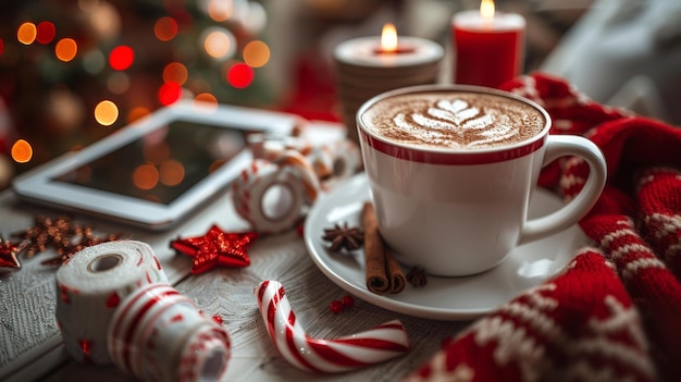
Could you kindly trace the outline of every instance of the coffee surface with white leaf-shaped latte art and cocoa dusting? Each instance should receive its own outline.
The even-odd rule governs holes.
[[[396,95],[371,106],[368,131],[395,143],[425,148],[481,148],[529,139],[544,128],[541,111],[499,95],[432,91]]]

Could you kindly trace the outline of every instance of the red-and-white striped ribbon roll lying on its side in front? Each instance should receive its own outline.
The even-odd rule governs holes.
[[[113,363],[145,381],[218,381],[231,355],[227,332],[169,284],[129,295],[109,325]]]

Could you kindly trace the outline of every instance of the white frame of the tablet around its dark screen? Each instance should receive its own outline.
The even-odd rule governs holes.
[[[168,205],[59,182],[54,178],[157,128],[166,126],[174,120],[243,131],[265,130],[267,133],[285,135],[290,134],[299,122],[296,115],[274,111],[179,101],[122,127],[81,151],[65,153],[18,175],[12,182],[12,189],[21,199],[32,202],[96,214],[150,230],[170,229],[179,223],[191,210],[224,189],[250,163],[252,160],[250,150],[243,150]]]

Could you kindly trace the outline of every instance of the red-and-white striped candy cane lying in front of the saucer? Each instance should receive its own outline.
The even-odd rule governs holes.
[[[281,283],[263,281],[253,293],[274,345],[299,369],[326,373],[348,371],[397,357],[410,348],[399,320],[336,340],[310,337],[296,320]]]

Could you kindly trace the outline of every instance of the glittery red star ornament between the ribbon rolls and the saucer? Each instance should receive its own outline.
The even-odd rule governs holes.
[[[171,242],[171,248],[193,257],[191,273],[199,274],[215,267],[248,267],[250,258],[246,254],[246,248],[257,237],[257,232],[227,233],[213,225],[203,236]]]

